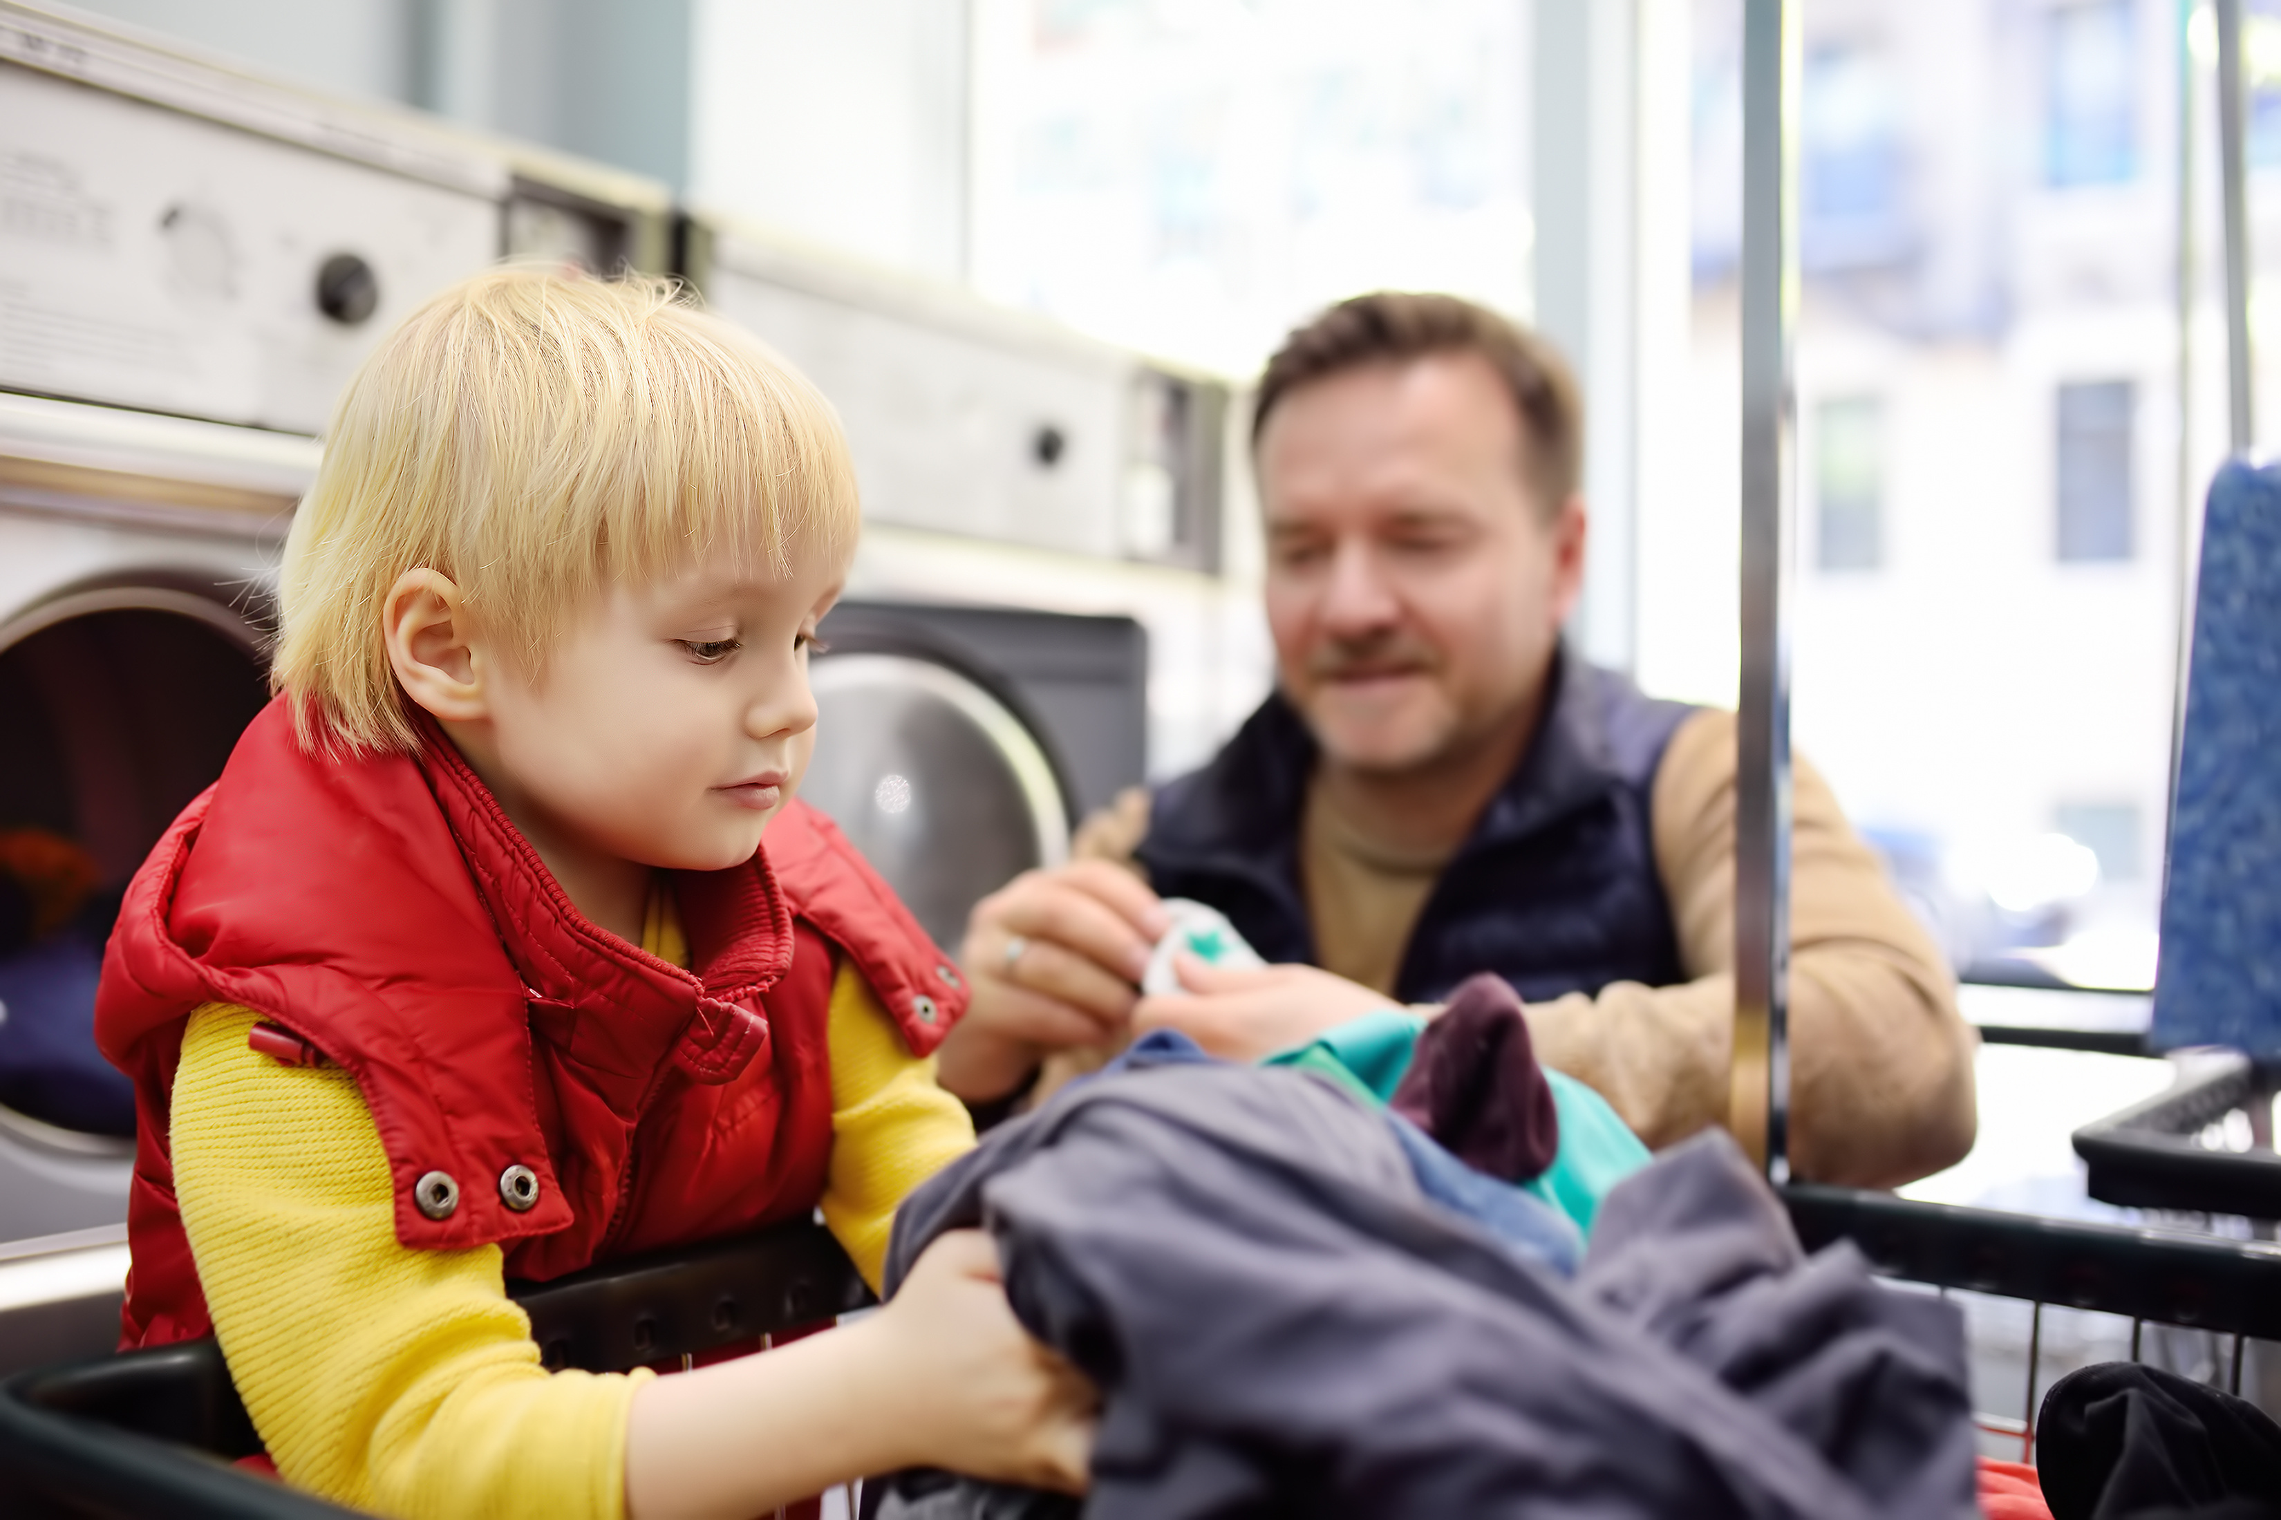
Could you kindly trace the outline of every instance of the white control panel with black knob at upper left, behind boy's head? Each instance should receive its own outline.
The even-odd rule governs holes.
[[[497,251],[497,201],[0,64],[5,388],[312,434]]]

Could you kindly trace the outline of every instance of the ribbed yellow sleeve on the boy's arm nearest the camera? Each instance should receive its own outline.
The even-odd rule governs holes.
[[[278,1472],[385,1515],[623,1515],[650,1374],[545,1372],[497,1246],[397,1242],[356,1082],[249,1050],[255,1018],[192,1013],[171,1134],[214,1333]]]

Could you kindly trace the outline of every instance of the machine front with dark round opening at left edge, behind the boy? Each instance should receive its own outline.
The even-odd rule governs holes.
[[[310,438],[0,395],[0,1242],[125,1219],[103,943],[269,696],[271,564],[315,466]]]

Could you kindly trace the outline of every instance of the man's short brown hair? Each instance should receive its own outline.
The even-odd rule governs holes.
[[[1380,290],[1353,297],[1284,338],[1259,377],[1252,447],[1259,447],[1268,413],[1300,386],[1428,354],[1474,354],[1505,381],[1528,431],[1528,484],[1544,498],[1544,516],[1558,514],[1576,493],[1583,468],[1583,399],[1576,395],[1576,377],[1553,345],[1519,322],[1448,294]]]

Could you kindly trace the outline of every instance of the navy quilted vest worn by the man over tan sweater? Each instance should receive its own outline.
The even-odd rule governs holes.
[[[1693,712],[1562,650],[1535,739],[1426,899],[1394,995],[1439,1002],[1496,972],[1531,1002],[1681,981],[1647,799]],[[1314,739],[1280,694],[1211,765],[1156,792],[1140,863],[1225,913],[1268,961],[1314,961],[1298,879]]]

